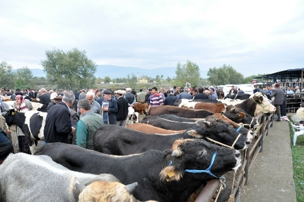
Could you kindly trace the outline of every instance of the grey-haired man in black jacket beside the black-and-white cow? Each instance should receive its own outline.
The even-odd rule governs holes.
[[[71,126],[70,120],[70,108],[73,106],[74,100],[74,93],[66,92],[62,101],[47,112],[43,145],[53,142],[67,143],[68,134],[74,134],[75,127]]]

